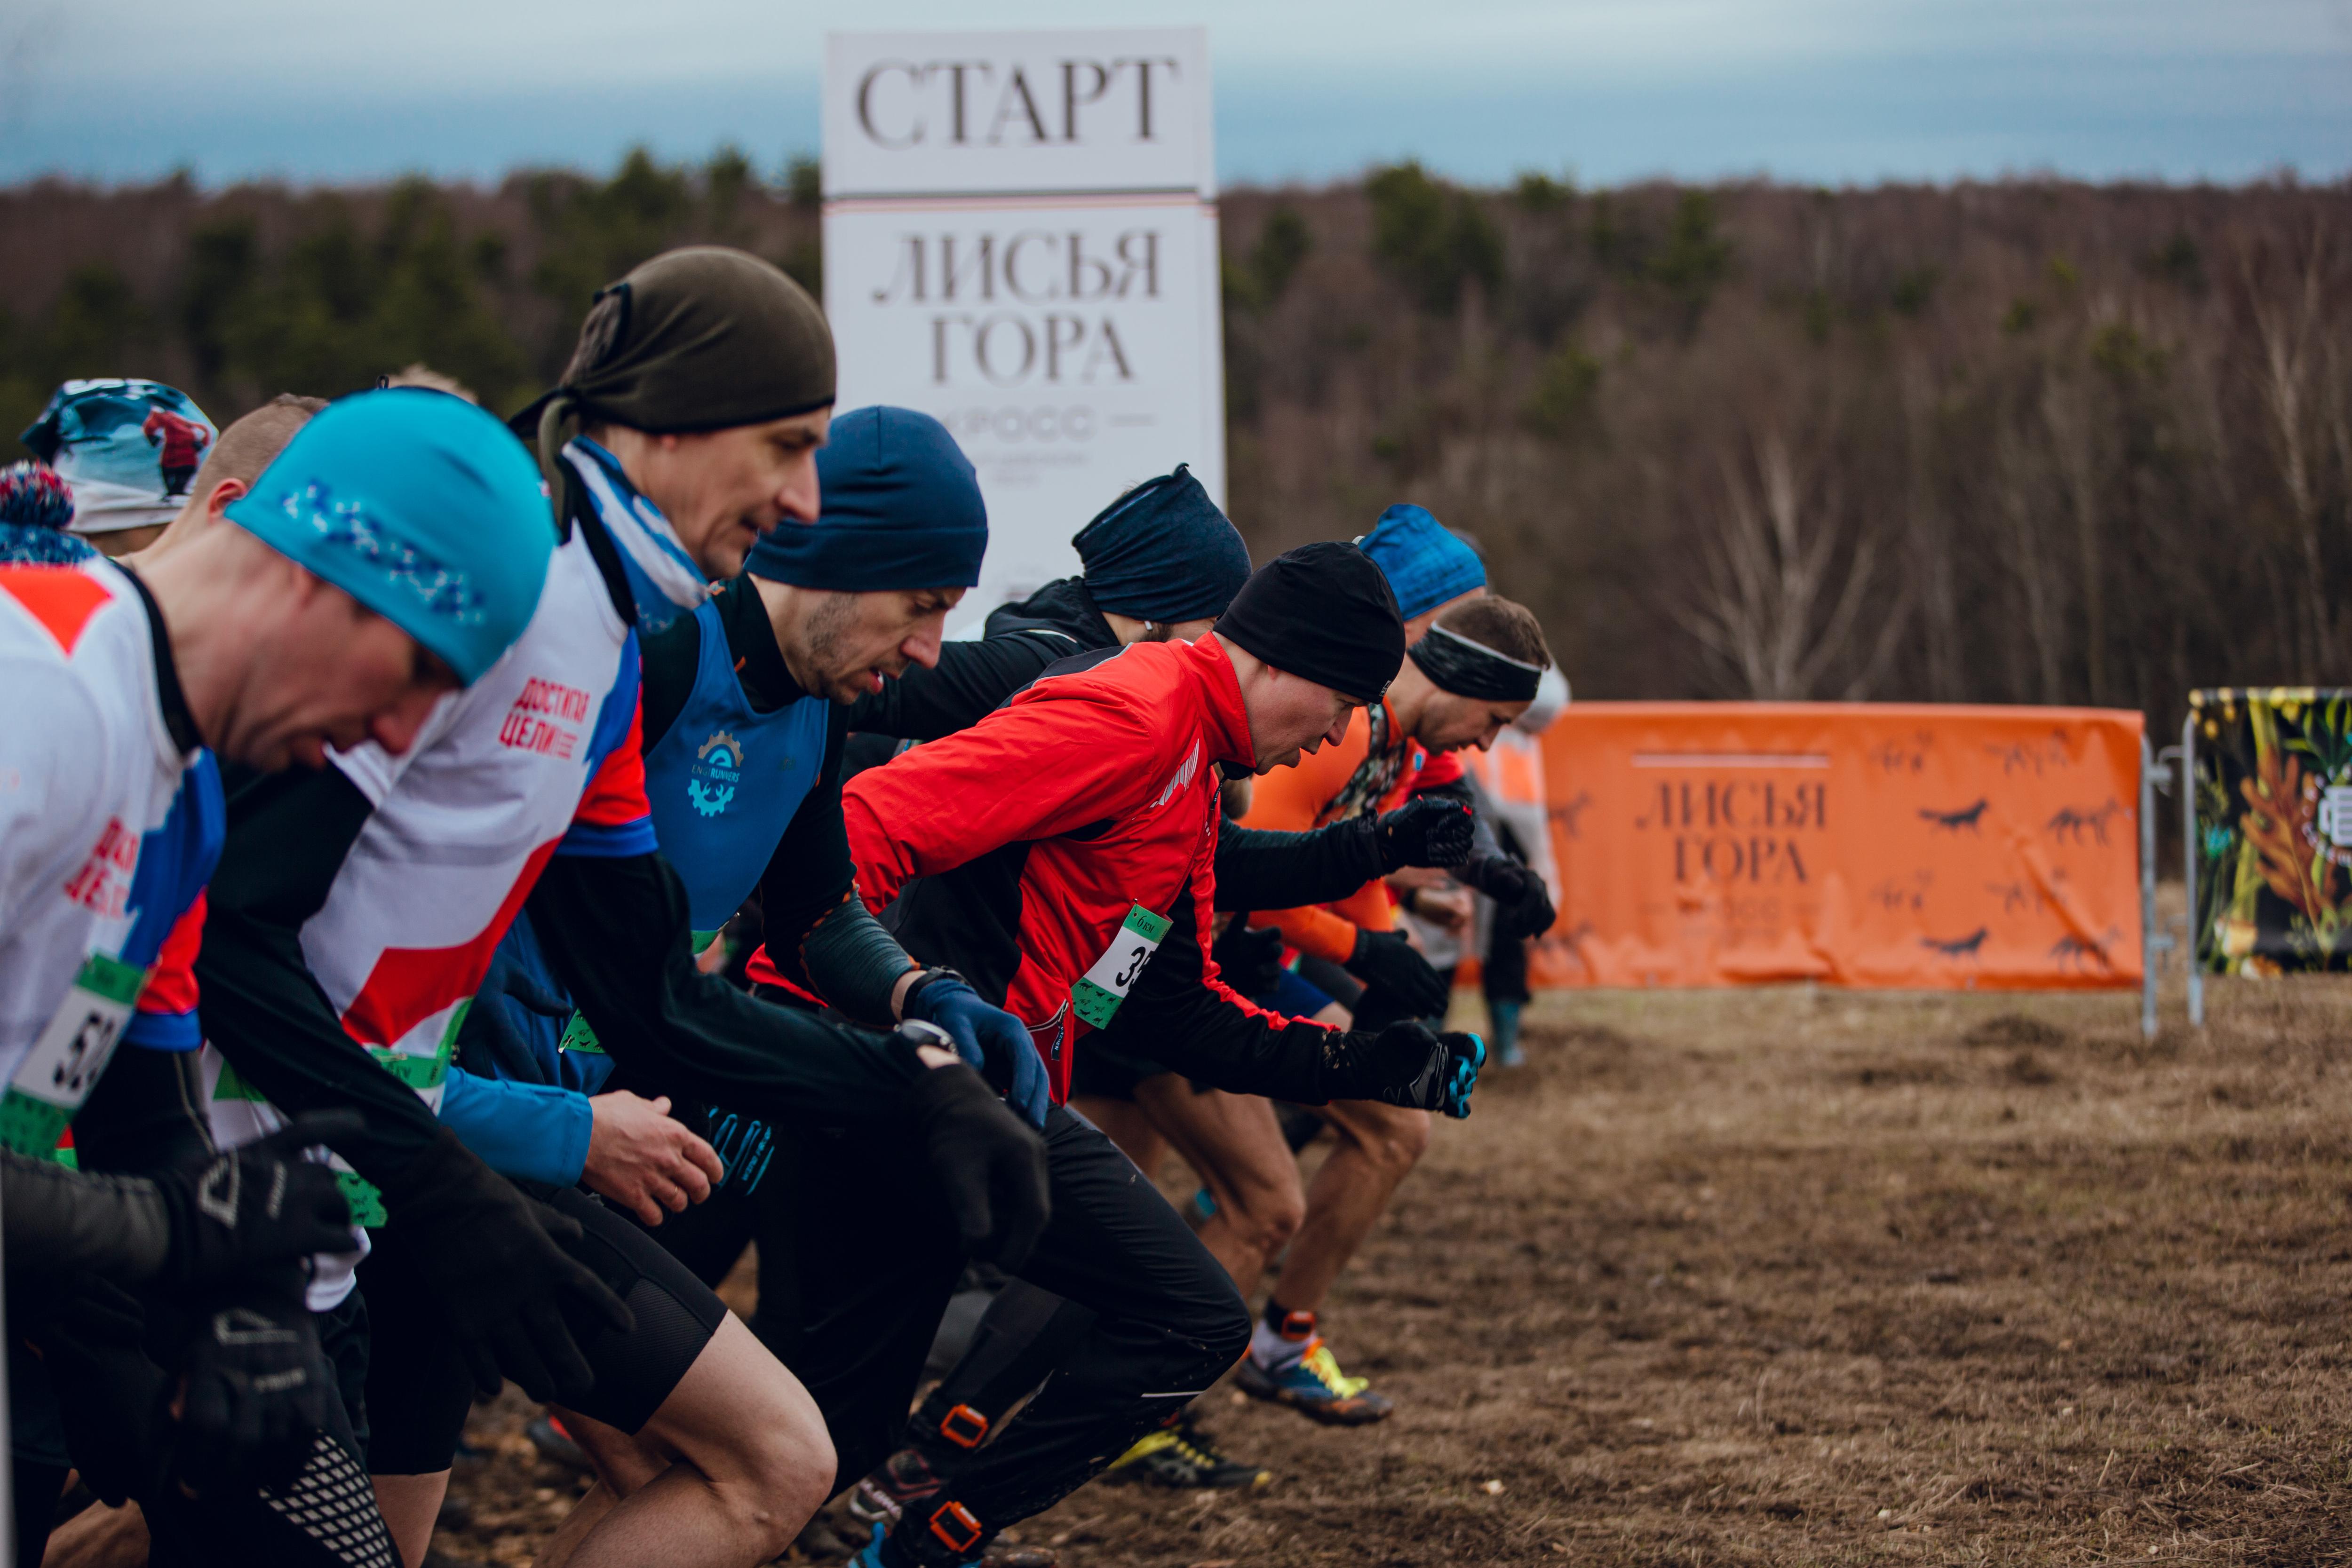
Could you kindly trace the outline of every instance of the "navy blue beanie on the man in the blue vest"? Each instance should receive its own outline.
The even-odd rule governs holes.
[[[851,409],[816,454],[816,522],[760,536],[743,569],[795,588],[974,588],[988,505],[971,458],[915,409]]]

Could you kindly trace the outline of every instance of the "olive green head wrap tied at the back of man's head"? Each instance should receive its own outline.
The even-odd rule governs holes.
[[[515,423],[536,423],[553,480],[581,425],[687,435],[830,402],[833,329],[809,292],[748,252],[694,244],[600,289],[562,386]]]

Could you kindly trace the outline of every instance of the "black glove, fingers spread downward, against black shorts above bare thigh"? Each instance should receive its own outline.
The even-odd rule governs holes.
[[[513,1378],[546,1403],[579,1403],[595,1385],[574,1324],[586,1333],[628,1333],[628,1305],[560,1244],[579,1241],[579,1220],[522,1197],[475,1159],[449,1128],[383,1190],[393,1225],[430,1229],[419,1246],[449,1335],[482,1396]]]

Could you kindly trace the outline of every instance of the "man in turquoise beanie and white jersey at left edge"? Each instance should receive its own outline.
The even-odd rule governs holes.
[[[263,430],[273,423],[282,418],[261,418]],[[85,1100],[92,1114],[75,1143],[85,1161],[120,1168],[118,1152],[153,1159],[136,1147],[148,1138],[122,1133],[158,1133],[155,1103],[200,1140],[188,1100],[172,1086],[176,1053],[195,1046],[186,964],[198,926],[183,910],[221,846],[219,776],[205,743],[252,769],[315,764],[329,745],[360,741],[402,752],[433,703],[496,658],[529,618],[546,545],[534,538],[529,465],[508,456],[494,421],[461,404],[360,400],[332,435],[301,463],[346,501],[343,512],[320,517],[325,527],[252,508],[245,477],[216,473],[191,505],[223,527],[141,576],[96,559],[0,569],[0,663],[9,665],[0,748],[19,780],[0,797],[0,1070],[9,1074],[0,1133],[19,1154],[54,1150]],[[388,447],[402,449],[395,473],[372,456]],[[437,557],[440,592],[419,592],[414,571],[388,571],[393,550]],[[115,1060],[118,1037],[139,1048]],[[158,1086],[141,1100],[141,1088]],[[99,1135],[108,1131],[113,1138]],[[308,1178],[296,1180],[280,1150],[214,1171],[235,1173],[240,1187],[247,1171],[270,1185],[285,1175],[289,1197],[318,1218]],[[242,1220],[242,1204],[235,1208]],[[223,1528],[214,1507],[242,1497],[230,1519],[242,1521],[238,1549],[247,1556],[268,1549],[296,1559],[301,1542],[310,1561],[365,1561],[383,1544],[365,1493],[348,1507],[336,1497],[358,1465],[348,1429],[325,1406],[301,1279],[299,1265],[240,1274],[191,1300],[172,1483],[158,1479],[153,1458],[165,1434],[143,1415],[160,1401],[122,1408],[108,1399],[125,1366],[134,1378],[143,1366],[136,1305],[129,1356],[92,1324],[87,1295],[68,1305],[52,1291],[49,1321],[19,1314],[19,1333],[31,1331],[49,1352],[45,1371],[66,1382],[66,1413],[106,1450],[73,1443],[92,1483],[122,1495],[136,1481],[146,1502],[191,1526],[202,1519],[214,1537]],[[155,1321],[158,1333],[167,1328]],[[153,1371],[151,1385],[160,1378]],[[261,1392],[273,1385],[282,1394]],[[322,1425],[327,1434],[313,1443]],[[249,1472],[301,1479],[266,1509],[240,1490]],[[61,1472],[52,1497],[56,1479]],[[191,1486],[212,1507],[191,1505]],[[19,1495],[31,1502],[45,1493]],[[294,1528],[285,1509],[322,1523]],[[45,1533],[47,1509],[28,1507],[19,1523]],[[247,1537],[254,1530],[263,1537]],[[280,1540],[263,1547],[270,1530]],[[38,1561],[38,1540],[19,1549],[28,1544],[28,1561]],[[191,1549],[207,1547],[193,1540]]]

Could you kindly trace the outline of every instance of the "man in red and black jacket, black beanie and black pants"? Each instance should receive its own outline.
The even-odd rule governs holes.
[[[1056,1100],[1096,1030],[1141,1027],[1167,1060],[1237,1091],[1319,1103],[1381,1093],[1468,1112],[1484,1048],[1416,1023],[1336,1034],[1263,1013],[1207,957],[1221,769],[1263,771],[1345,729],[1402,658],[1395,597],[1350,545],[1258,571],[1218,630],[1129,644],[1049,675],[976,726],[861,773],[844,792],[858,889],[920,959],[950,959],[1028,1023]],[[1004,790],[1018,776],[1023,788]],[[1141,1020],[1141,1023],[1136,1023]],[[1136,1168],[1065,1110],[1047,1117],[1054,1220],[1014,1269],[1096,1312],[997,1441],[863,1563],[964,1563],[1007,1523],[1082,1486],[1207,1389],[1247,1345],[1223,1269]],[[793,1363],[844,1467],[880,1460],[960,1272],[936,1199],[887,1143],[797,1150],[854,1211],[809,1213]],[[889,1248],[868,1215],[889,1213]],[[861,1255],[844,1274],[823,1258]]]

